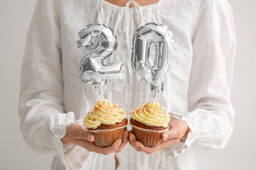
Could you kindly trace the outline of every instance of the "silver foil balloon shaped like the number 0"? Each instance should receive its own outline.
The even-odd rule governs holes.
[[[164,25],[147,23],[137,30],[132,43],[132,69],[139,81],[151,85],[152,96],[164,91],[163,81],[170,68],[173,40]]]

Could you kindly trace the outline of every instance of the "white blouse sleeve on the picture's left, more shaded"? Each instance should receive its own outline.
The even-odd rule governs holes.
[[[29,147],[63,157],[60,138],[75,116],[73,112],[63,113],[59,21],[55,1],[36,2],[21,69],[18,113]]]

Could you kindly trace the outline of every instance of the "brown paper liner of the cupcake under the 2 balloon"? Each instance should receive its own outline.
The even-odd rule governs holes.
[[[112,145],[115,140],[122,140],[125,127],[127,127],[127,125],[110,130],[89,130],[89,132],[92,132],[95,136],[95,145],[99,147],[108,147]]]

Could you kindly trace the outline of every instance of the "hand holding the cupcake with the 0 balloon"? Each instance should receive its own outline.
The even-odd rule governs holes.
[[[171,119],[169,123],[169,130],[161,135],[162,142],[160,145],[154,147],[146,147],[142,145],[141,142],[136,141],[136,137],[132,132],[129,132],[129,144],[134,147],[138,152],[145,152],[146,154],[151,154],[153,152],[159,151],[166,147],[176,144],[182,138],[188,136],[190,128],[183,120]]]

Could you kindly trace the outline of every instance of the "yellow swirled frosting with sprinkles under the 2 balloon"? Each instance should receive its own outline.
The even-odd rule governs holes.
[[[95,129],[101,124],[114,125],[120,123],[127,115],[118,104],[114,105],[107,99],[97,101],[94,108],[84,118],[86,128]]]

